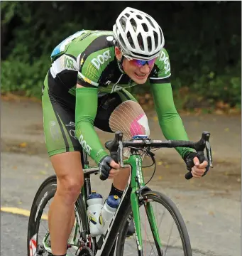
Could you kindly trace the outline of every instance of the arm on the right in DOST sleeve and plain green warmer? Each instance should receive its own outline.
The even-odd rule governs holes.
[[[150,87],[160,128],[166,139],[189,140],[180,114],[175,107],[170,84],[170,60],[165,49],[162,50],[155,63],[158,66],[158,72],[150,78]],[[185,147],[177,147],[176,150],[182,158],[187,152],[193,151],[193,149]]]

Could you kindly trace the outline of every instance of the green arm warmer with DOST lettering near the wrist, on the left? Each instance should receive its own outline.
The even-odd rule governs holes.
[[[97,132],[94,119],[97,114],[97,88],[82,87],[76,89],[75,125],[76,137],[82,148],[99,164],[100,159],[108,156]]]

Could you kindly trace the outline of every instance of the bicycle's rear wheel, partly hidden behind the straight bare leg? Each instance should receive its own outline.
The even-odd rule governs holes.
[[[56,176],[50,176],[43,181],[38,189],[28,220],[28,256],[50,255],[50,237],[48,232],[48,210],[57,188]],[[87,215],[84,208],[82,196],[75,203],[75,234],[72,240],[68,240],[67,254],[76,255],[82,243],[83,231],[87,230]]]

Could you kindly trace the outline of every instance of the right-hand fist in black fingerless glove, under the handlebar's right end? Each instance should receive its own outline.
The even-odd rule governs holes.
[[[194,178],[201,178],[206,171],[206,167],[208,165],[207,159],[205,159],[201,164],[199,163],[199,159],[197,158],[197,154],[191,152],[187,155],[185,162],[187,164],[187,169],[192,169],[192,176]]]

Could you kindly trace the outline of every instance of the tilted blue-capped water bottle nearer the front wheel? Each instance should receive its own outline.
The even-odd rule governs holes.
[[[101,218],[104,225],[104,230],[108,228],[109,222],[119,207],[119,196],[109,196],[101,209]]]

